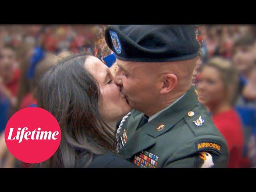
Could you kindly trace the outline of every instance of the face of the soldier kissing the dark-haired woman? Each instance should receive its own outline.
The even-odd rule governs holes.
[[[144,112],[159,96],[154,64],[118,60],[115,83],[121,87],[131,108]]]

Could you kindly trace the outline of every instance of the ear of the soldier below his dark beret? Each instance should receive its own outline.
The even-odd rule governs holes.
[[[163,74],[161,76],[161,94],[169,93],[178,83],[178,78],[172,73]]]

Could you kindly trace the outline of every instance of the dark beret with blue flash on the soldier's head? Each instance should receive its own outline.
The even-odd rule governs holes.
[[[116,58],[136,62],[188,60],[200,48],[191,25],[110,25],[105,39]]]

